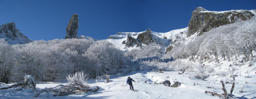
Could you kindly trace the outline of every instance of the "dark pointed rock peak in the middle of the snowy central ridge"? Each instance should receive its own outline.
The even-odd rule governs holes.
[[[138,35],[137,39],[138,39],[139,42],[141,42],[143,44],[146,44],[146,45],[154,43],[153,33],[150,29],[146,30],[143,33],[140,33]]]

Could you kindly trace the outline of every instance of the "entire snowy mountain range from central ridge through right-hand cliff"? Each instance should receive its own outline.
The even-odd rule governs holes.
[[[173,48],[172,43],[178,41],[187,44],[204,32],[212,30],[212,28],[235,23],[239,20],[249,20],[255,15],[256,10],[208,11],[203,7],[197,7],[192,12],[191,19],[186,28],[172,30],[166,33],[157,33],[150,29],[142,32],[118,32],[116,35],[109,36],[108,41],[114,43],[116,48],[121,50],[130,50],[145,45],[153,45],[161,47],[162,52],[166,53]],[[146,34],[140,36],[143,33]],[[132,43],[130,43],[130,41]]]

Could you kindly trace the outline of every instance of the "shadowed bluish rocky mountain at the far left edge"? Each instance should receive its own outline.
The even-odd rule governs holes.
[[[25,44],[33,41],[20,33],[14,22],[0,25],[0,38],[5,38],[10,44]]]

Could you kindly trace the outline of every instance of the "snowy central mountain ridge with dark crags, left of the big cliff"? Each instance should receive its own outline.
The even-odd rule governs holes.
[[[138,48],[139,43],[142,46],[145,45],[156,45],[163,48],[164,52],[165,48],[173,42],[176,42],[178,39],[186,40],[186,32],[188,27],[178,30],[172,30],[166,33],[158,33],[153,32],[150,29],[142,32],[118,32],[116,35],[112,35],[108,37],[108,42],[111,42],[116,45],[116,48],[121,50],[130,50],[134,48]],[[147,34],[149,34],[147,36]],[[152,35],[152,36],[151,36]],[[133,37],[138,43],[132,42],[136,46],[129,47],[127,41],[129,40],[128,36]],[[151,41],[150,41],[151,40]],[[138,46],[137,46],[138,45]]]

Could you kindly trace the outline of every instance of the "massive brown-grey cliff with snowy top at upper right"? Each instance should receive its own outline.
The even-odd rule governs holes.
[[[207,11],[202,7],[197,7],[192,12],[191,19],[188,23],[187,35],[191,36],[196,32],[201,35],[203,32],[208,32],[212,28],[217,28],[222,25],[235,23],[237,20],[248,20],[255,16],[248,10],[231,10],[231,11]]]

